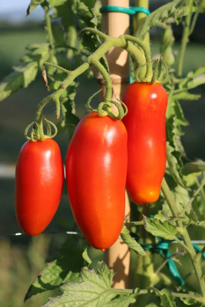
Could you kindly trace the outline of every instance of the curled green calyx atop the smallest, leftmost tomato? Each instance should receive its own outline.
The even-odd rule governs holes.
[[[51,121],[47,120],[44,116],[42,117],[42,119],[45,121],[46,124],[46,129],[47,129],[47,134],[44,134],[44,128],[43,125],[39,125],[36,121],[36,119],[30,123],[25,131],[24,131],[24,136],[27,140],[32,141],[32,142],[36,142],[36,141],[45,141],[45,139],[52,139],[56,136],[57,134],[57,127],[54,123],[52,123]],[[54,128],[54,133],[52,133],[52,127]],[[31,129],[30,132],[30,136],[29,136],[29,131]]]

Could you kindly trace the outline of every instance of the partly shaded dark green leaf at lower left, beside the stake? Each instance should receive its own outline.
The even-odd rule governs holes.
[[[69,236],[69,239],[59,250],[58,256],[48,262],[47,267],[33,281],[27,291],[25,301],[33,295],[53,290],[66,282],[80,281],[80,268],[85,264],[87,266],[88,259],[83,258],[82,253],[85,255],[84,247],[76,248],[74,239],[71,240]]]

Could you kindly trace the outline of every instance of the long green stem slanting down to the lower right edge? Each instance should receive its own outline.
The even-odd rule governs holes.
[[[172,195],[172,193],[169,189],[169,186],[168,186],[165,178],[162,181],[161,190],[162,190],[163,195],[165,196],[165,199],[166,199],[166,201],[167,201],[167,203],[170,207],[172,214],[174,216],[179,216],[179,210],[175,205],[173,195]],[[187,229],[183,226],[182,221],[179,220],[176,223],[177,223],[177,226],[178,226],[178,231],[180,232],[181,237],[183,239],[183,242],[185,243],[186,249],[187,249],[187,251],[188,251],[188,253],[191,257],[192,264],[193,264],[193,267],[194,267],[194,271],[196,273],[196,276],[197,276],[197,279],[198,279],[198,282],[199,282],[199,285],[200,285],[200,288],[201,288],[201,293],[203,295],[203,298],[205,298],[205,281],[204,281],[204,279],[201,278],[201,276],[202,276],[201,266],[200,266],[199,261],[197,261],[197,259],[196,259],[196,252],[195,252],[194,247],[192,245],[189,233],[188,233]]]

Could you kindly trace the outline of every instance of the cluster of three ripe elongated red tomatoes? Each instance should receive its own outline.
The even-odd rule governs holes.
[[[121,120],[86,115],[66,158],[66,179],[75,221],[88,242],[105,250],[117,240],[125,216],[125,189],[138,205],[159,197],[166,167],[168,96],[158,83],[132,83]],[[16,164],[15,210],[20,227],[38,235],[60,202],[64,168],[57,143],[27,141]]]

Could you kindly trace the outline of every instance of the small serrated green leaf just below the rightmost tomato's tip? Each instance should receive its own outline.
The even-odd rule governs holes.
[[[159,236],[163,239],[174,240],[177,233],[176,227],[169,222],[162,223],[158,220],[144,216],[145,229],[154,236]]]

